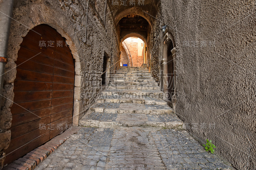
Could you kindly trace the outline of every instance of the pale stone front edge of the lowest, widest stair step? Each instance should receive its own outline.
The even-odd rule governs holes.
[[[174,121],[174,122],[154,122],[154,121],[146,121],[146,122],[133,122],[133,121],[112,121],[112,122],[102,122],[98,120],[80,120],[79,126],[86,127],[95,127],[95,128],[115,128],[118,126],[123,127],[131,127],[131,126],[153,126],[153,127],[163,127],[166,129],[179,129],[186,130],[185,124],[183,122]]]

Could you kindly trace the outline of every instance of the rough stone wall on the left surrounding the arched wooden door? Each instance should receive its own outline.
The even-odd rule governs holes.
[[[30,29],[40,24],[48,24],[55,28],[67,43],[75,59],[75,90],[73,125],[92,105],[101,91],[101,76],[104,53],[111,58],[110,65],[119,60],[118,40],[113,24],[113,17],[107,5],[106,23],[104,19],[105,1],[96,1],[89,4],[87,33],[85,33],[87,1],[78,0],[17,0],[13,8],[13,20],[8,44],[6,74],[4,75],[4,89],[0,114],[0,169],[4,161],[4,149],[10,143],[10,127],[12,114],[10,107],[13,104],[13,82],[16,77],[15,61],[20,49],[22,37]],[[102,12],[103,11],[103,12]],[[86,36],[86,42],[82,38]],[[118,65],[119,64],[119,65]],[[117,63],[110,69],[115,72],[120,67]],[[99,77],[99,78],[98,78]],[[93,83],[92,83],[93,82]]]

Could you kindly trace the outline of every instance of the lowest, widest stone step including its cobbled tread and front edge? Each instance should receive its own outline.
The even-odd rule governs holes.
[[[115,128],[118,126],[154,126],[166,129],[185,129],[177,115],[145,115],[136,113],[97,113],[90,112],[79,121],[80,126]]]

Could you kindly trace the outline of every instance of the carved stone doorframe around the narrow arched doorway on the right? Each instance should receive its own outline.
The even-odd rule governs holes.
[[[174,94],[172,95],[172,101],[166,99],[167,93],[168,93],[168,60],[167,60],[167,55],[168,55],[168,46],[172,43],[173,49],[171,50],[172,52],[172,57],[173,57],[173,85],[174,85]],[[175,41],[174,37],[171,33],[167,32],[164,35],[164,53],[163,53],[163,59],[161,60],[161,65],[163,66],[163,90],[164,90],[164,100],[168,103],[169,106],[172,107],[173,111],[176,111],[176,51],[177,49],[175,48]]]

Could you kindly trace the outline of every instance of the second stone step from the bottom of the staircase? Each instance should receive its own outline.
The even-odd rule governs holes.
[[[139,113],[165,115],[171,114],[172,108],[168,105],[146,105],[137,103],[94,103],[90,110],[99,113]]]

